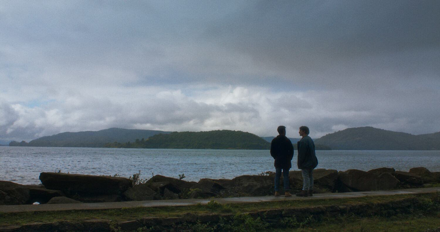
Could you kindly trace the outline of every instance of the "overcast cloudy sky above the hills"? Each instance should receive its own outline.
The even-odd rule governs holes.
[[[0,142],[440,131],[440,1],[0,0]]]

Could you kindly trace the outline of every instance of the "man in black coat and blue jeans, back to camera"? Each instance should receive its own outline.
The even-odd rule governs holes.
[[[275,196],[279,196],[279,180],[281,171],[284,182],[284,195],[292,196],[289,188],[289,169],[293,158],[292,142],[286,137],[286,127],[280,125],[277,129],[279,136],[276,136],[271,143],[271,156],[275,159]]]

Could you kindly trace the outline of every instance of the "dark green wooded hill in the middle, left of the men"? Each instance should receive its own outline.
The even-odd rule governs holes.
[[[270,143],[248,132],[214,130],[158,134],[134,143],[109,143],[106,147],[176,149],[270,149]]]

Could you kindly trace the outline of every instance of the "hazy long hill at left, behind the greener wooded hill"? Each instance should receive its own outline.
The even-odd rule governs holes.
[[[12,141],[9,146],[29,147],[104,147],[106,143],[135,141],[156,134],[168,134],[170,131],[110,128],[100,131],[65,132],[44,136],[29,143]]]

